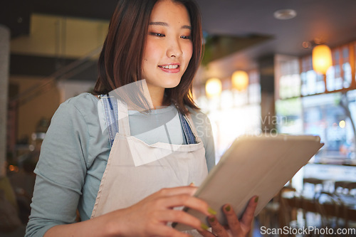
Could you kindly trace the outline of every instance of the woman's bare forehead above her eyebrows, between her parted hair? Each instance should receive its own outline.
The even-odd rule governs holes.
[[[171,0],[157,1],[152,9],[150,21],[190,25],[190,17],[187,8],[183,4]]]

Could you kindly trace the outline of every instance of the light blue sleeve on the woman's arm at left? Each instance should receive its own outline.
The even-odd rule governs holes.
[[[52,226],[75,221],[89,139],[83,115],[75,106],[63,103],[53,115],[41,147],[26,236],[43,236]]]

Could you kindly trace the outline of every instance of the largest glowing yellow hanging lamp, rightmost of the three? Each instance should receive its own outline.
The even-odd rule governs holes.
[[[328,69],[333,65],[331,51],[325,44],[320,44],[313,48],[313,70],[316,73],[325,75]]]

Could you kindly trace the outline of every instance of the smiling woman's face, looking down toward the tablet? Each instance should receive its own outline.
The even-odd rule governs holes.
[[[170,0],[155,4],[142,63],[142,76],[148,88],[164,90],[179,84],[192,58],[191,28],[184,5]]]

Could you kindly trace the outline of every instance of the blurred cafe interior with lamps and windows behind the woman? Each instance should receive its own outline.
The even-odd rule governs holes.
[[[356,228],[356,1],[197,2],[205,53],[193,96],[211,121],[216,162],[241,135],[325,143],[256,217],[251,236],[267,236],[258,226]],[[53,113],[93,90],[115,4],[1,2],[0,189],[14,191],[22,224],[8,236],[28,221]]]

